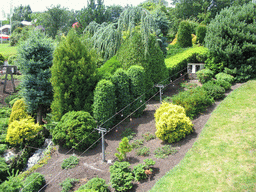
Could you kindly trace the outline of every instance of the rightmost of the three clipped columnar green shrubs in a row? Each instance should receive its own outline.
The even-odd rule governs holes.
[[[130,78],[130,101],[134,101],[141,96],[131,104],[130,111],[137,110],[133,113],[133,117],[140,117],[146,108],[146,105],[143,105],[145,102],[145,95],[143,95],[145,93],[145,70],[141,66],[133,65],[127,70],[127,74]]]

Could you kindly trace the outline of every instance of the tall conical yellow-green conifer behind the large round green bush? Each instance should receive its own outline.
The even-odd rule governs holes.
[[[92,112],[96,66],[73,30],[55,49],[51,72],[54,90],[51,108],[55,120],[72,110]]]

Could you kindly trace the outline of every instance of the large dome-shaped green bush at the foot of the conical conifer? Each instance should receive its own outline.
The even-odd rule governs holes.
[[[70,111],[63,115],[52,133],[55,144],[67,148],[84,150],[92,145],[98,138],[98,132],[93,132],[96,122],[85,111]]]

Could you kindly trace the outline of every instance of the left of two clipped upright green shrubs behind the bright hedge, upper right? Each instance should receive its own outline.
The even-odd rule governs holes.
[[[192,31],[188,21],[181,21],[178,30],[177,42],[180,47],[192,46]]]

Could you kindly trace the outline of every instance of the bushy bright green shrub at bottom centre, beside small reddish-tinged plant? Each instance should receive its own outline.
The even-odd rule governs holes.
[[[109,167],[110,183],[117,191],[126,191],[132,188],[132,180],[134,179],[130,163],[116,161]]]

